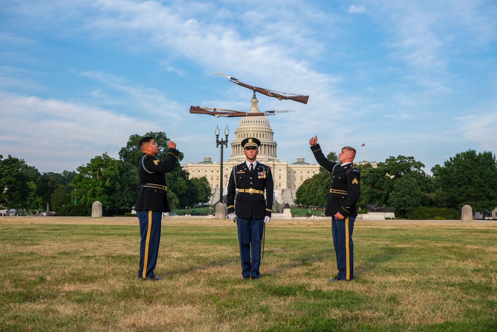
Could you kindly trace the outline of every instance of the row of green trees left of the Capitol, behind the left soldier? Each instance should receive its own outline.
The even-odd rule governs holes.
[[[134,207],[138,191],[138,162],[142,152],[140,138],[153,136],[159,146],[157,157],[163,160],[169,139],[165,132],[148,132],[129,137],[119,151],[119,159],[107,153],[95,156],[76,171],[40,173],[23,159],[0,155],[0,206],[17,211],[56,211],[61,216],[90,216],[93,202],[102,203],[104,216],[123,216]],[[206,203],[211,196],[207,178],[189,179],[188,172],[177,165],[166,173],[167,199],[171,209]]]

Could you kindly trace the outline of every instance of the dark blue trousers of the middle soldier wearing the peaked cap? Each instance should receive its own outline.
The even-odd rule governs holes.
[[[240,261],[242,277],[259,277],[260,241],[264,230],[264,219],[237,219],[238,242],[240,243]],[[250,253],[252,259],[250,260]]]

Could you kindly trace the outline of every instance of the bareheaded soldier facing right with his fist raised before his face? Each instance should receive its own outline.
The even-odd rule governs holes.
[[[146,136],[140,139],[140,150],[143,155],[138,163],[138,179],[140,192],[136,198],[135,210],[140,222],[140,267],[138,278],[157,281],[154,269],[157,264],[159,242],[161,240],[161,220],[163,212],[170,212],[167,204],[165,173],[172,171],[178,159],[179,151],[176,143],[167,143],[168,151],[165,160],[156,157],[159,148],[154,138]]]

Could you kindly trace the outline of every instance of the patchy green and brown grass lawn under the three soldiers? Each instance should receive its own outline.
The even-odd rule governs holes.
[[[497,222],[356,221],[355,280],[329,219],[271,220],[261,279],[236,226],[168,217],[137,278],[135,218],[0,218],[0,331],[497,331]]]

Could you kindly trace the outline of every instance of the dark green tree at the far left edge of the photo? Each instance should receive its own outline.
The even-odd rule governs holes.
[[[30,182],[28,166],[23,159],[0,155],[0,206],[10,209],[27,209],[28,198],[33,187]]]

